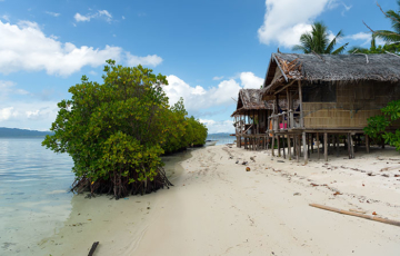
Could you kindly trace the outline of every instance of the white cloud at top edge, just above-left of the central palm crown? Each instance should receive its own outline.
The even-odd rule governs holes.
[[[299,43],[301,33],[311,30],[312,20],[332,0],[266,0],[264,22],[258,30],[260,42],[291,48]]]

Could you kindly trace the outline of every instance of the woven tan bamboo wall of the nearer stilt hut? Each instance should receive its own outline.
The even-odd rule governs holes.
[[[399,83],[337,85],[337,102],[303,102],[307,128],[363,128],[389,101],[400,99]],[[400,128],[400,124],[397,126]]]

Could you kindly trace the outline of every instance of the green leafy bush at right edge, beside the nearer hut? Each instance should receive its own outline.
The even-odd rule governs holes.
[[[400,119],[400,100],[390,101],[381,111],[383,115],[368,118],[368,126],[363,130],[372,139],[384,139],[384,142],[400,151],[400,130],[387,131],[387,128]]]

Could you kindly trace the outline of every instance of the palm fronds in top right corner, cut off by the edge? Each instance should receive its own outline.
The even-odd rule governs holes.
[[[376,31],[373,31],[373,36],[376,36],[377,38],[383,39],[388,45],[389,43],[394,43],[394,45],[400,43],[400,0],[398,0],[397,3],[399,6],[398,11],[389,10],[387,12],[384,12],[382,10],[382,8],[377,3],[378,7],[380,8],[380,10],[383,12],[383,14],[388,19],[390,19],[394,31],[376,30]]]

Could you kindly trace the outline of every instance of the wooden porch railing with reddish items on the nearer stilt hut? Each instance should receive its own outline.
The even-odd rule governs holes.
[[[272,121],[272,129],[270,124]],[[302,128],[303,120],[300,118],[300,111],[283,111],[281,114],[272,115],[268,118],[268,131],[288,130],[293,128]],[[267,132],[268,132],[267,131]]]

